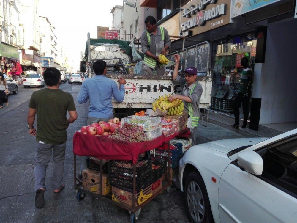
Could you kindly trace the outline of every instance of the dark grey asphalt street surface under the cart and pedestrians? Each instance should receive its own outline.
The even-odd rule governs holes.
[[[76,199],[73,189],[72,137],[76,130],[86,124],[87,104],[78,104],[76,97],[79,84],[62,84],[60,89],[72,94],[78,112],[78,119],[67,130],[67,149],[64,167],[65,189],[54,194],[51,189],[53,165],[47,169],[45,208],[35,208],[34,161],[35,136],[27,129],[27,112],[32,92],[39,88],[19,86],[17,95],[9,95],[9,106],[0,109],[0,222],[98,222],[124,223],[129,221],[127,210],[86,195],[83,201]],[[44,117],[47,118],[47,117]],[[36,123],[34,124],[36,126]],[[198,142],[205,143],[218,139],[243,137],[214,124],[199,126]],[[80,158],[78,158],[80,166]],[[163,191],[149,202],[139,215],[137,222],[187,223],[184,194],[175,186]]]

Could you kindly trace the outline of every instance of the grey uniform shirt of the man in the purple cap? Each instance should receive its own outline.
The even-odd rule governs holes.
[[[189,96],[192,100],[192,108],[193,108],[193,116],[194,117],[200,117],[200,111],[199,111],[199,103],[200,103],[200,98],[203,92],[201,84],[198,83],[198,81],[195,81],[193,84],[188,86],[186,80],[184,78],[181,78],[181,76],[177,76],[176,79],[173,81],[176,84],[179,84],[181,86],[181,93],[180,95],[184,96]],[[194,91],[192,92],[192,95],[190,95],[191,89],[193,88],[194,84],[198,83]],[[188,102],[184,103],[184,107],[189,112],[189,106]]]

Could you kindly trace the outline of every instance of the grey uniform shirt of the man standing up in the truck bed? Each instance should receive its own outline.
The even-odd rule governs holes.
[[[159,26],[157,26],[156,35],[154,35],[151,32],[150,36],[151,36],[151,45],[149,45],[149,40],[146,34],[146,30],[144,30],[141,34],[141,51],[144,54],[147,51],[150,51],[152,54],[159,56],[165,45],[168,45],[169,48],[171,47],[168,31],[165,28],[164,28],[164,40],[162,40],[161,30]]]

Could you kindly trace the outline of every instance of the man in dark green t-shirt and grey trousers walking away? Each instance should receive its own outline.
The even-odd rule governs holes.
[[[43,208],[45,205],[45,173],[52,153],[54,161],[52,188],[54,193],[61,192],[65,187],[62,181],[67,140],[66,129],[70,123],[77,119],[72,95],[59,89],[60,71],[50,67],[45,70],[43,77],[48,86],[33,92],[27,115],[29,134],[36,135],[37,142],[34,168],[36,208]],[[67,111],[70,116],[68,119]],[[37,114],[37,130],[33,126],[35,114]]]

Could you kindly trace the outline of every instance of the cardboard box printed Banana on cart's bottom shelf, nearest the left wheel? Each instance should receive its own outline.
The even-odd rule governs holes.
[[[83,189],[100,194],[100,172],[94,169],[83,170]],[[108,182],[108,175],[102,174],[102,195],[110,193],[111,186]]]

